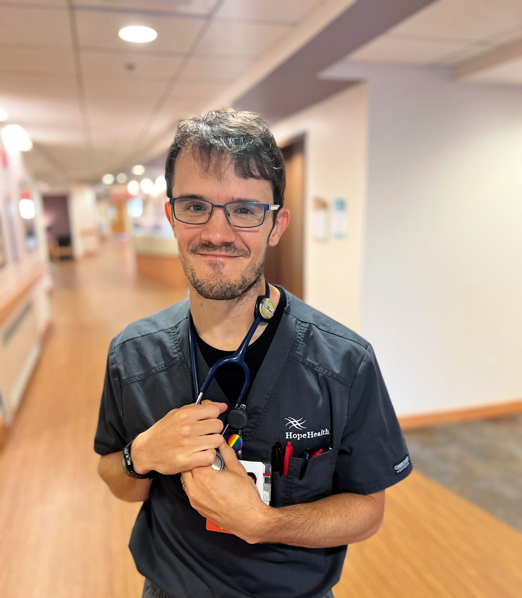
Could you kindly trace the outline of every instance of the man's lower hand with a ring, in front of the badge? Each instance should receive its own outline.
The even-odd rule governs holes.
[[[254,480],[237,460],[234,449],[223,444],[219,452],[225,462],[223,471],[197,467],[182,472],[181,482],[190,504],[200,515],[255,544],[271,509],[262,502]]]

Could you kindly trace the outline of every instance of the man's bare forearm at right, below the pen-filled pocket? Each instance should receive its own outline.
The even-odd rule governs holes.
[[[373,536],[384,514],[384,490],[372,495],[338,494],[304,505],[268,508],[256,543],[328,548]]]

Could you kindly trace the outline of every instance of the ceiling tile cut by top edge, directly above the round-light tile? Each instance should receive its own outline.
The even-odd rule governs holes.
[[[139,10],[149,13],[181,13],[205,16],[218,0],[74,0],[75,7],[100,7],[102,10]]]

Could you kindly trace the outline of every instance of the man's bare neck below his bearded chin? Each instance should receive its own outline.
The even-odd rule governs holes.
[[[254,322],[254,307],[257,298],[265,294],[265,279],[247,295],[230,301],[204,299],[190,287],[190,312],[197,333],[215,349],[235,351]],[[274,307],[279,303],[279,291],[270,285],[270,299]],[[251,343],[260,337],[266,324],[261,322],[254,332]]]

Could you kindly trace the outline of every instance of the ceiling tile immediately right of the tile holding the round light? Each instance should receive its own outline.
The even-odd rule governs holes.
[[[268,50],[290,29],[288,25],[213,22],[197,51],[214,56],[255,57]]]

